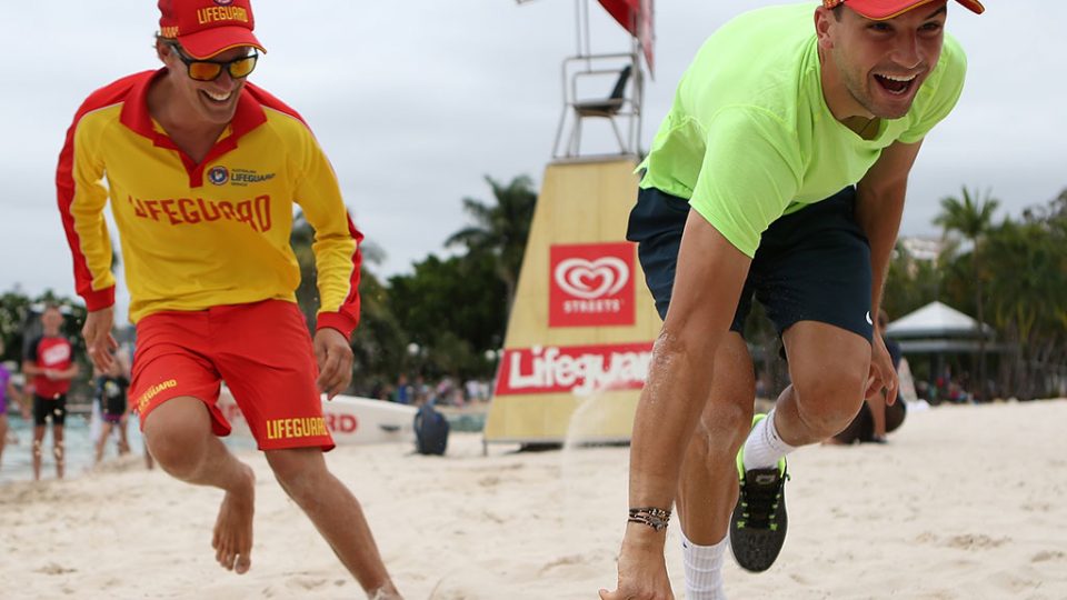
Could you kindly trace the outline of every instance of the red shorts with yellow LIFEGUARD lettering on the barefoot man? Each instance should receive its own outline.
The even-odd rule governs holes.
[[[137,323],[130,398],[144,419],[182,396],[202,401],[216,436],[221,381],[233,393],[260,450],[333,448],[322,419],[311,337],[292,302],[265,300],[198,311],[157,312]]]

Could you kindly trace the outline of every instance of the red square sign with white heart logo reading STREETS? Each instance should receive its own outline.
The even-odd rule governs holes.
[[[552,246],[549,327],[634,324],[634,244]]]

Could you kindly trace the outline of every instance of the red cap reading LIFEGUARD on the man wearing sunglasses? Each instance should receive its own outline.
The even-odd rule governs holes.
[[[192,58],[241,46],[267,51],[252,34],[256,20],[249,0],[159,0],[159,12],[160,36],[177,39]]]

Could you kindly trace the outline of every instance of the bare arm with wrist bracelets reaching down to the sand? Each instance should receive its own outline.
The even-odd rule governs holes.
[[[634,419],[630,508],[670,510],[681,461],[711,388],[712,360],[729,332],[751,259],[689,212],[670,310],[652,350]],[[665,531],[627,523],[619,588],[605,600],[666,598]]]

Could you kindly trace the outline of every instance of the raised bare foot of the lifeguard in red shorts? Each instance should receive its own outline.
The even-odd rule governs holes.
[[[228,571],[247,573],[252,566],[252,513],[256,509],[256,474],[251,467],[241,464],[242,481],[227,491],[215,521],[211,548],[215,559]]]

